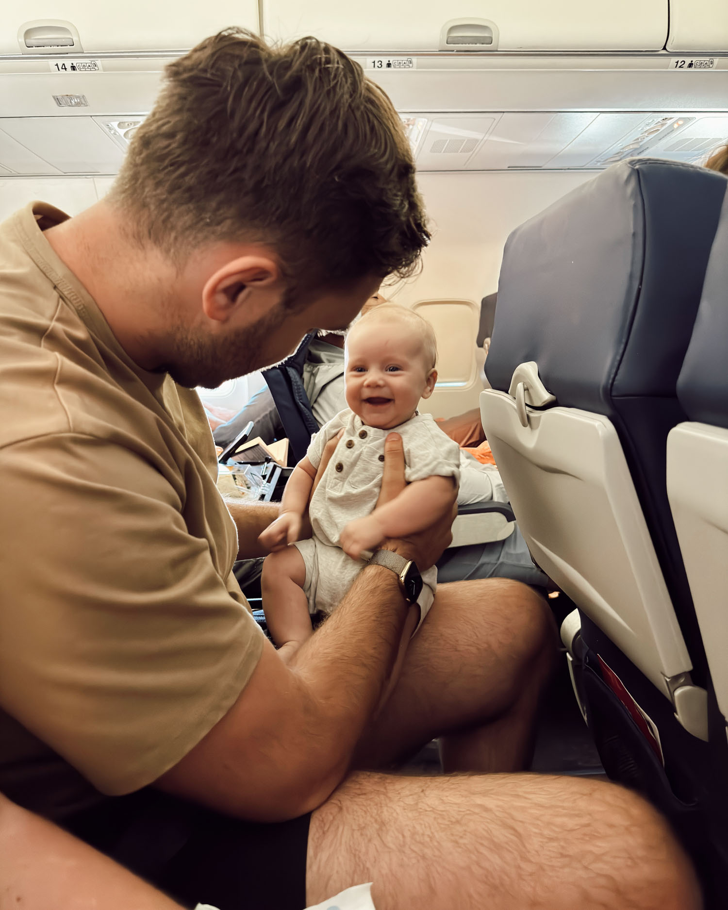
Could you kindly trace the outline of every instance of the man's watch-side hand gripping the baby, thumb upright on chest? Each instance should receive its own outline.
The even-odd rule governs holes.
[[[389,433],[384,442],[384,475],[381,481],[378,506],[392,501],[407,486],[404,479],[404,449],[399,433]],[[430,569],[447,550],[452,542],[452,522],[458,514],[458,489],[452,487],[452,507],[444,514],[432,516],[432,524],[426,531],[410,534],[402,540],[384,541],[386,550],[393,550],[408,560],[413,560],[420,571]]]

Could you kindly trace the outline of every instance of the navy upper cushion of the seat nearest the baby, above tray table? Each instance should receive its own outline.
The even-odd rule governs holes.
[[[486,372],[535,360],[561,405],[675,394],[725,177],[632,158],[517,227],[503,254]]]

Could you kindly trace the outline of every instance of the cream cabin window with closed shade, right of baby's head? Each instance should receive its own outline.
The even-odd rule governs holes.
[[[483,384],[478,356],[480,306],[474,300],[420,300],[411,308],[427,319],[438,342],[438,381],[419,410],[433,417],[455,417],[478,407]]]

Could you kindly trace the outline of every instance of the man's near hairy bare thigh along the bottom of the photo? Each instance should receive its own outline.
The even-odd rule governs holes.
[[[614,784],[357,773],[311,819],[307,903],[373,882],[377,910],[698,910],[667,824]]]

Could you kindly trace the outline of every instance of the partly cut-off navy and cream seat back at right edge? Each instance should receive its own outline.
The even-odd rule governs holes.
[[[722,725],[728,718],[728,198],[667,440],[667,492]]]

